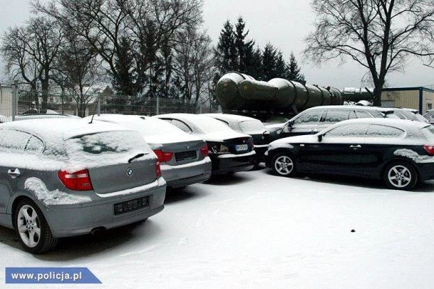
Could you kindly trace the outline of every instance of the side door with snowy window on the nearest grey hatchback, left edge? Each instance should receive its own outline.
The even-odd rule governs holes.
[[[31,134],[17,130],[0,130],[0,213],[6,213],[10,196],[25,173],[25,148]]]

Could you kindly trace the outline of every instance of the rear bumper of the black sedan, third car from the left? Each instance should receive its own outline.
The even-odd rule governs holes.
[[[255,156],[256,152],[254,151],[242,155],[210,155],[212,160],[212,175],[250,170],[254,166]]]

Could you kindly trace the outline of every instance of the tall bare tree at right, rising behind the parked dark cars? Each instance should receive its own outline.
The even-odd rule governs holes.
[[[365,67],[374,105],[381,105],[388,72],[403,71],[412,55],[433,62],[432,0],[313,0],[312,8],[318,20],[305,58],[318,64],[349,58]]]

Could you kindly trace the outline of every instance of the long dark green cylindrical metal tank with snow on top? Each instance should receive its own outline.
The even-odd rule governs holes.
[[[367,89],[319,87],[273,78],[258,81],[244,73],[226,73],[217,82],[217,100],[224,110],[297,112],[318,105],[342,105],[344,100],[370,100]]]

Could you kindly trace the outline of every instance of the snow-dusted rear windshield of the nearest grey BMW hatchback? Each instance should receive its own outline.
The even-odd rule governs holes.
[[[137,132],[99,132],[72,137],[65,141],[70,161],[95,166],[125,163],[150,148]]]

